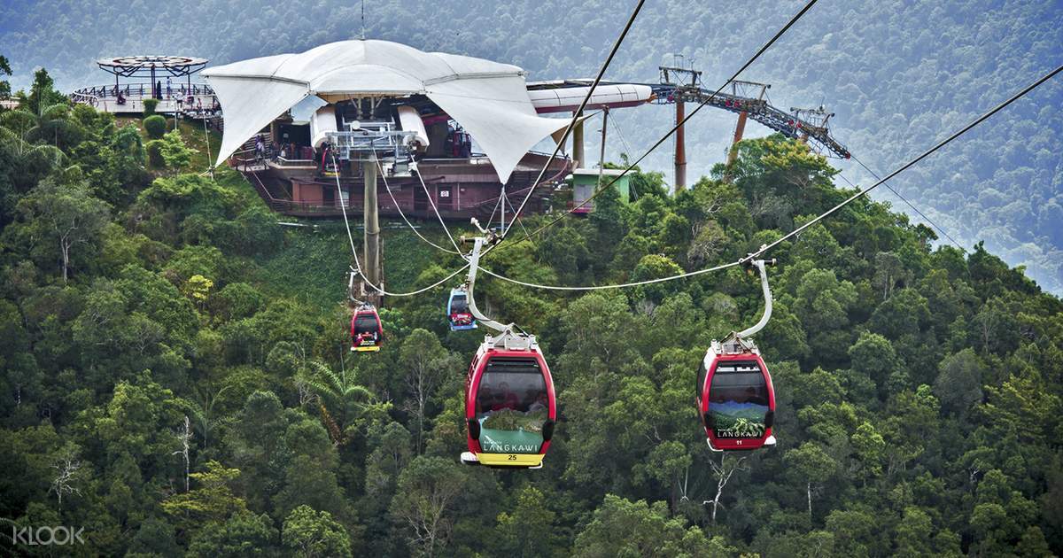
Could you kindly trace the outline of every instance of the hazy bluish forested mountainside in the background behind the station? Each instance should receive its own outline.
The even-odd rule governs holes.
[[[804,4],[649,2],[607,78],[656,82],[678,52],[715,88]],[[517,64],[532,80],[592,77],[634,2],[366,2],[366,36],[423,50]],[[360,35],[358,2],[145,2],[13,0],[0,5],[0,45],[15,88],[49,68],[63,90],[106,83],[102,56],[188,54],[215,64],[299,52]],[[742,74],[773,84],[783,109],[825,104],[834,136],[879,174],[1006,99],[1063,58],[1059,2],[820,2]],[[1039,284],[1063,293],[1063,85],[1048,83],[961,145],[898,177],[894,187],[964,247],[979,240]],[[637,156],[672,124],[670,106],[615,111],[609,157]],[[689,175],[724,158],[735,117],[702,111],[687,132]],[[596,129],[595,124],[591,125]],[[763,136],[759,124],[748,136]],[[588,134],[588,141],[596,141]],[[669,147],[671,143],[667,143]],[[588,146],[588,153],[596,153]],[[868,184],[854,162],[848,180]],[[665,169],[661,149],[646,168]],[[844,183],[844,181],[842,181]],[[917,220],[889,191],[876,193]],[[944,240],[944,239],[943,239]]]

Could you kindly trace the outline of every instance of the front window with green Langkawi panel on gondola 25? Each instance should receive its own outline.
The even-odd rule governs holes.
[[[488,360],[476,391],[476,420],[484,453],[539,453],[549,412],[546,381],[536,359]]]

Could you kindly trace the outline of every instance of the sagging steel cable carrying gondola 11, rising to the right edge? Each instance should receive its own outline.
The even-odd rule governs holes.
[[[561,287],[561,286],[555,286],[555,285],[538,285],[538,284],[535,284],[535,283],[527,283],[527,282],[523,282],[523,281],[519,281],[519,280],[506,277],[506,276],[501,275],[499,273],[494,273],[493,271],[491,271],[491,270],[489,270],[487,268],[484,268],[484,267],[480,267],[479,269],[484,273],[486,273],[488,275],[491,275],[493,277],[497,277],[497,278],[503,280],[503,281],[508,281],[508,282],[514,283],[517,285],[523,285],[525,287],[532,287],[532,288],[538,288],[538,289],[547,289],[547,290],[574,290],[574,291],[579,291],[579,290],[621,289],[621,288],[626,288],[626,287],[636,287],[636,286],[639,286],[639,285],[648,285],[648,284],[652,284],[652,283],[663,283],[663,282],[667,282],[667,281],[675,281],[675,280],[685,278],[685,277],[689,277],[689,276],[693,276],[693,275],[699,275],[699,274],[703,274],[703,273],[709,273],[709,272],[712,272],[712,271],[720,271],[722,269],[726,269],[726,268],[729,268],[729,267],[745,265],[745,264],[747,264],[747,263],[749,263],[749,261],[752,261],[754,259],[757,259],[758,257],[760,257],[761,255],[763,255],[765,252],[767,252],[769,250],[775,248],[776,246],[778,246],[779,243],[786,241],[787,239],[789,239],[789,238],[791,238],[791,237],[793,237],[795,235],[800,234],[802,231],[808,229],[809,226],[812,226],[813,224],[815,224],[815,223],[817,223],[817,222],[826,219],[827,217],[829,217],[833,213],[838,212],[839,209],[841,209],[845,205],[848,205],[849,203],[851,203],[857,198],[865,196],[866,193],[868,193],[871,190],[875,189],[879,185],[884,184],[885,181],[889,181],[890,179],[896,176],[897,174],[904,172],[905,170],[908,170],[909,168],[911,168],[916,163],[923,160],[924,158],[926,158],[927,156],[931,155],[935,151],[938,151],[941,148],[947,146],[949,142],[951,142],[956,138],[962,136],[963,134],[965,134],[966,132],[968,132],[971,129],[973,129],[973,128],[977,126],[978,124],[982,123],[983,121],[988,120],[990,117],[992,117],[996,113],[1002,111],[1005,107],[1007,107],[1011,103],[1015,102],[1019,98],[1024,97],[1025,95],[1027,95],[1028,92],[1030,92],[1031,90],[1033,90],[1034,88],[1036,88],[1039,85],[1041,85],[1044,82],[1050,80],[1051,78],[1053,78],[1057,73],[1059,73],[1061,71],[1063,71],[1063,66],[1060,66],[1060,67],[1056,68],[1051,72],[1049,72],[1049,73],[1045,74],[1044,77],[1042,77],[1036,82],[1028,85],[1026,88],[1024,88],[1022,91],[1015,94],[1014,96],[1012,96],[1007,101],[998,104],[996,107],[994,107],[993,109],[991,109],[988,113],[983,114],[982,116],[978,117],[977,119],[975,119],[969,124],[963,126],[961,130],[952,133],[952,135],[950,135],[949,137],[947,137],[946,139],[940,141],[934,147],[932,147],[932,148],[928,149],[927,151],[923,152],[923,154],[921,154],[917,157],[909,160],[908,163],[906,163],[900,168],[894,170],[893,172],[891,172],[890,174],[888,174],[884,179],[880,179],[874,185],[868,186],[866,189],[861,190],[861,191],[853,195],[851,197],[849,197],[848,199],[846,199],[842,203],[840,203],[840,204],[836,205],[834,207],[828,209],[827,212],[825,212],[824,214],[820,215],[819,217],[816,217],[812,221],[809,221],[808,223],[806,223],[806,224],[804,224],[804,225],[795,229],[794,231],[791,231],[790,233],[788,233],[782,238],[779,238],[778,240],[775,240],[771,244],[766,244],[766,246],[762,247],[761,249],[759,249],[756,252],[747,255],[746,257],[743,257],[743,258],[739,259],[738,261],[732,261],[730,264],[723,264],[723,265],[715,266],[715,267],[708,268],[708,269],[702,269],[702,270],[697,270],[697,271],[691,271],[691,272],[688,272],[688,273],[680,273],[678,275],[672,275],[672,276],[669,276],[669,277],[661,277],[661,278],[656,278],[656,280],[640,281],[640,282],[634,282],[634,283],[625,283],[625,284],[621,284],[621,285],[600,285],[600,286],[591,286],[591,287]],[[495,246],[497,246],[497,244],[495,244]]]

